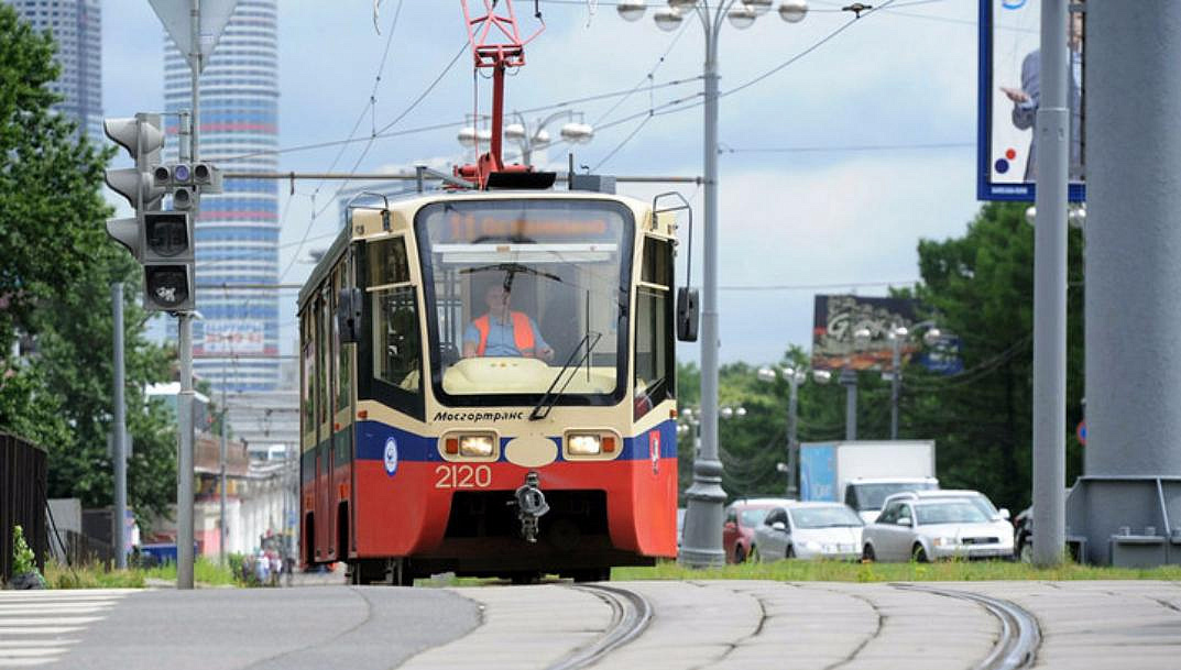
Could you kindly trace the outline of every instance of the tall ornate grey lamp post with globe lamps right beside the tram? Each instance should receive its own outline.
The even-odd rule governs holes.
[[[772,0],[668,0],[668,6],[654,13],[657,27],[674,31],[693,12],[705,34],[705,260],[702,281],[702,451],[693,460],[693,485],[686,492],[685,538],[680,561],[691,567],[722,565],[726,554],[722,547],[723,505],[722,461],[718,460],[718,38],[723,20],[736,28],[750,27],[765,14]],[[644,15],[645,0],[621,0],[619,15],[635,21]],[[788,22],[801,21],[808,12],[804,0],[784,0],[779,17]]]

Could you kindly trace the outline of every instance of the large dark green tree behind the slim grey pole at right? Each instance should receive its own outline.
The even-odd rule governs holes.
[[[979,488],[1024,507],[1031,491],[1033,228],[1025,203],[990,203],[959,238],[919,242],[916,296],[959,337],[964,372],[906,370],[903,436],[938,440],[945,487]],[[1068,293],[1068,481],[1081,472],[1082,232],[1070,231]],[[1066,482],[1063,482],[1065,485]]]

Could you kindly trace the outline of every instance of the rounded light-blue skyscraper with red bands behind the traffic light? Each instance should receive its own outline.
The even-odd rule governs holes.
[[[201,73],[200,158],[223,170],[274,171],[279,138],[278,1],[239,0]],[[165,35],[164,106],[191,106],[191,73]],[[176,159],[177,117],[165,144]],[[240,158],[242,157],[242,158]],[[279,186],[227,179],[203,196],[196,225],[197,309],[194,372],[231,392],[273,390],[279,382],[279,297],[257,285],[279,280]],[[269,357],[268,357],[269,356]]]

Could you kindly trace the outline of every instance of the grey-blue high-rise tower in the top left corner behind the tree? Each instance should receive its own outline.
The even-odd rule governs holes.
[[[6,0],[17,14],[58,42],[61,66],[50,90],[63,97],[53,106],[78,121],[94,142],[103,139],[103,13],[100,0]]]

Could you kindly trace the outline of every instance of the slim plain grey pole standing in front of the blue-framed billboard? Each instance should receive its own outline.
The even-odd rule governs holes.
[[[1033,563],[1039,566],[1061,563],[1066,541],[1068,5],[1042,0],[1033,230]]]

